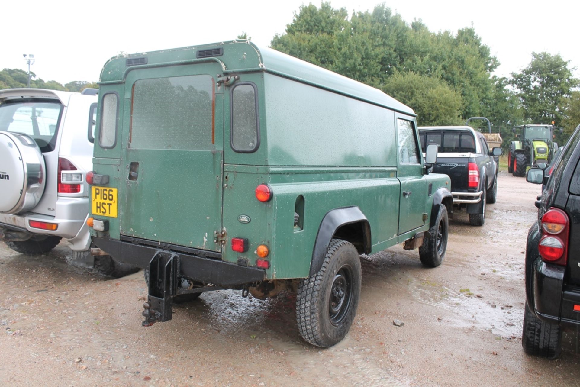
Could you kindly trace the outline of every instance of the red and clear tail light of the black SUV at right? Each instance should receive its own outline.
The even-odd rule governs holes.
[[[559,208],[550,208],[542,216],[542,237],[538,250],[542,260],[565,266],[568,260],[568,215]]]

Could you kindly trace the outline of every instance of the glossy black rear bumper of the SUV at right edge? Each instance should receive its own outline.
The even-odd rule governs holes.
[[[580,288],[564,284],[565,267],[536,258],[532,271],[532,297],[538,319],[551,324],[580,325]]]

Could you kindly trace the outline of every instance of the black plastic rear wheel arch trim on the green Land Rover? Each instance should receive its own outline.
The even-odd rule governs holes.
[[[310,276],[316,274],[322,267],[324,256],[336,231],[342,226],[353,223],[361,223],[362,225],[362,249],[357,248],[359,254],[369,254],[371,252],[371,225],[361,209],[356,206],[331,209],[324,215],[322,222],[320,222],[320,227],[318,227],[312,261],[310,262]]]

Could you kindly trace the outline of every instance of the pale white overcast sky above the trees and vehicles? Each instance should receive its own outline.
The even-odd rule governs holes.
[[[283,34],[302,0],[273,1],[13,1],[2,10],[0,68],[31,71],[45,81],[98,81],[103,64],[119,52],[135,53],[235,39],[247,32],[258,45]],[[333,8],[372,10],[378,0],[333,0]],[[313,4],[320,6],[319,1]],[[422,19],[431,31],[472,26],[509,76],[532,52],[559,53],[580,77],[579,1],[393,0],[386,6],[407,23]]]

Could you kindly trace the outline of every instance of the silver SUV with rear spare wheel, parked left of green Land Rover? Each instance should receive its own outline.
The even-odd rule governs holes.
[[[133,272],[90,255],[88,185],[97,90],[0,91],[0,239],[43,254],[64,238],[78,261],[111,276]]]

